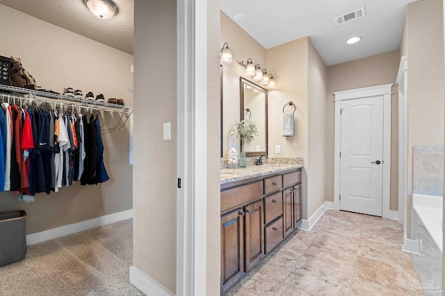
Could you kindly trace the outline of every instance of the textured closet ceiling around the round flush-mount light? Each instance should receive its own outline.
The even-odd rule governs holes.
[[[134,1],[113,1],[118,13],[111,19],[93,15],[83,0],[0,0],[0,4],[132,55]]]

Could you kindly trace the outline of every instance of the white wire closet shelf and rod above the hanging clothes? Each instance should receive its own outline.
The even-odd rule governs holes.
[[[0,98],[8,100],[9,103],[22,103],[24,100],[35,101],[36,103],[46,103],[47,105],[54,105],[54,109],[72,110],[81,108],[83,110],[97,110],[105,112],[117,112],[122,114],[126,120],[122,123],[122,128],[129,116],[133,114],[133,107],[125,105],[117,105],[105,102],[98,102],[87,100],[85,98],[74,98],[73,96],[63,96],[61,94],[54,94],[52,92],[42,92],[35,89],[26,89],[22,87],[13,87],[10,85],[0,85]],[[118,128],[119,123],[116,126]]]

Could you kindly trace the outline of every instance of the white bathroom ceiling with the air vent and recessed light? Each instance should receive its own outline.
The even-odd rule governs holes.
[[[398,49],[406,6],[413,1],[221,0],[221,10],[266,49],[309,36],[330,66]],[[335,25],[334,17],[362,6],[366,17]],[[239,12],[244,17],[234,19]],[[346,44],[355,35],[362,41]]]

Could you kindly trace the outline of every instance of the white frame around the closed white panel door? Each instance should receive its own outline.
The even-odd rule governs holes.
[[[334,92],[335,136],[334,136],[334,209],[340,209],[340,147],[341,147],[341,101],[357,98],[383,96],[383,175],[382,175],[382,218],[397,220],[397,211],[391,211],[391,87],[394,84],[377,85]]]

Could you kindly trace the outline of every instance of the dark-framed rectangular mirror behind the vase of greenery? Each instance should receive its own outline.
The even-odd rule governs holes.
[[[267,155],[267,89],[240,77],[240,94],[241,120],[248,119],[258,125],[257,137],[245,141],[245,155]]]

